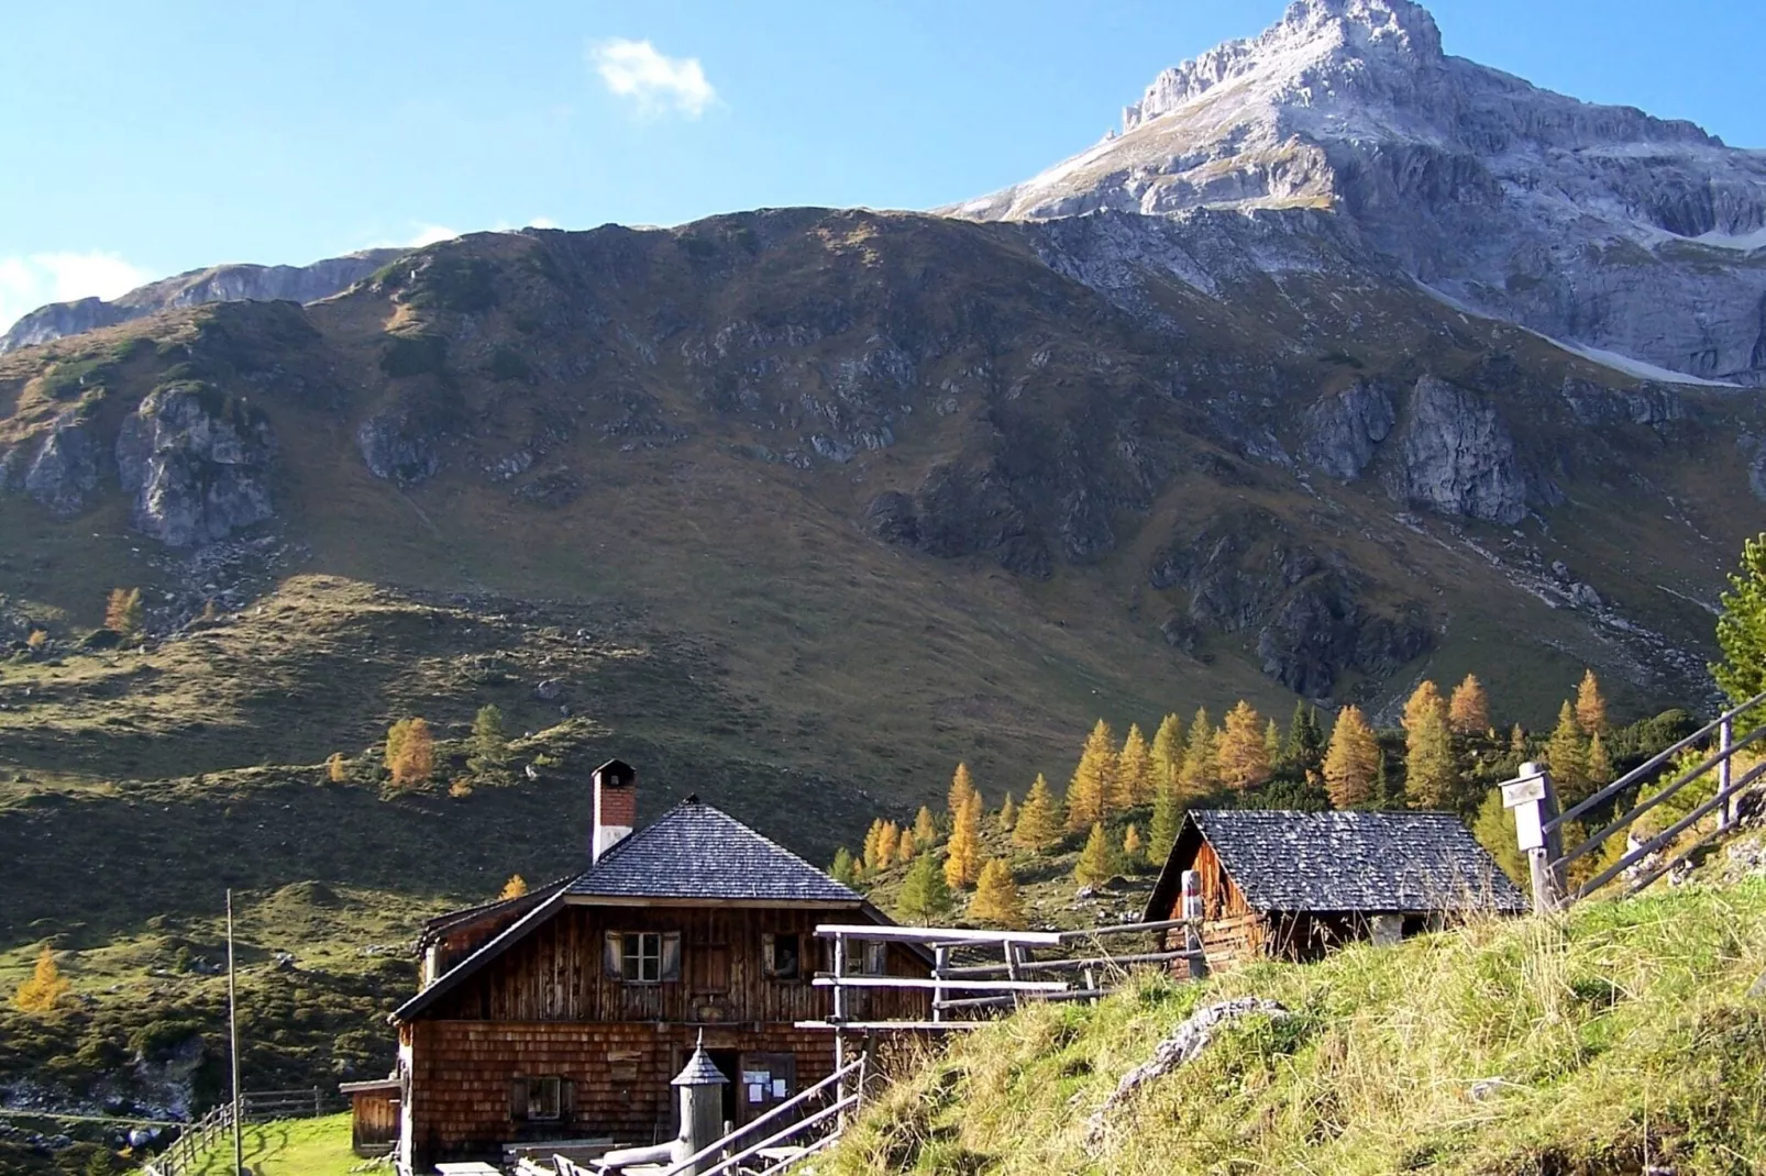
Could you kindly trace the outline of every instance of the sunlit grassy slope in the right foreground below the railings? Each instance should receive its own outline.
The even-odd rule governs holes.
[[[1766,1157],[1766,879],[1591,902],[1204,985],[1136,976],[906,1063],[858,1172],[1750,1172]],[[1194,1008],[1273,998],[1107,1119]],[[1475,1084],[1478,1093],[1473,1093]]]

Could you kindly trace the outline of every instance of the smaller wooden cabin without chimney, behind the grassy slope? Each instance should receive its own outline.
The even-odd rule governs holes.
[[[1183,916],[1196,871],[1210,968],[1310,961],[1531,902],[1452,812],[1201,809],[1183,819],[1146,922]],[[1183,946],[1183,931],[1167,946]]]

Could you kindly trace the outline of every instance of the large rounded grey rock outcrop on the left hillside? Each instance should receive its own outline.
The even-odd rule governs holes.
[[[200,383],[154,388],[117,434],[132,523],[168,547],[198,547],[263,523],[275,452],[270,424]]]

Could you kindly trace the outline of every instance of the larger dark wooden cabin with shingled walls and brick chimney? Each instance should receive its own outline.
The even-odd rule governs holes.
[[[689,796],[636,823],[636,773],[595,770],[585,872],[433,920],[399,1033],[401,1172],[494,1160],[523,1141],[673,1137],[673,1079],[701,1038],[745,1123],[834,1072],[825,922],[890,920],[857,892]],[[853,971],[929,976],[913,946],[869,943]],[[925,1021],[920,989],[849,998],[853,1021]]]

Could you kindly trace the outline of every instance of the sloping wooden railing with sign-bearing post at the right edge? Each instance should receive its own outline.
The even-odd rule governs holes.
[[[1591,796],[1577,802],[1570,809],[1558,810],[1558,793],[1551,772],[1543,765],[1524,763],[1521,775],[1503,784],[1503,803],[1515,812],[1515,835],[1521,849],[1528,855],[1528,869],[1533,883],[1533,909],[1558,911],[1574,902],[1581,902],[1607,883],[1625,876],[1625,892],[1635,893],[1662,878],[1669,871],[1688,862],[1694,853],[1725,833],[1734,823],[1736,796],[1766,777],[1766,761],[1736,773],[1736,756],[1766,738],[1766,726],[1752,726],[1736,738],[1738,720],[1747,720],[1748,712],[1757,712],[1766,705],[1766,694],[1724,712],[1672,747],[1651,756]],[[1672,765],[1674,758],[1695,747],[1709,749],[1695,766],[1687,768],[1664,788],[1644,796],[1644,789],[1657,784],[1660,775]],[[1618,833],[1630,833],[1641,816],[1679,795],[1690,784],[1715,780],[1715,793],[1709,800],[1694,805],[1679,819],[1648,837],[1628,837],[1630,844],[1611,865],[1570,890],[1565,876],[1566,867],[1595,853]],[[1581,818],[1612,803],[1621,796],[1635,795],[1637,800],[1623,814],[1612,818],[1602,828],[1586,835],[1575,846],[1565,849],[1563,830]],[[1695,832],[1699,821],[1715,814],[1709,828]],[[1671,858],[1657,860],[1669,846],[1674,846],[1688,830],[1695,835],[1681,844]]]

